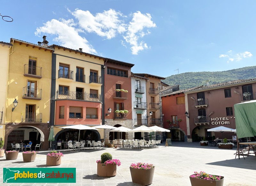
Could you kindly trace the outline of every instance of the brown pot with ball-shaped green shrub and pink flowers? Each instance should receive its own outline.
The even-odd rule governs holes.
[[[101,154],[100,160],[97,163],[97,175],[100,177],[116,176],[116,166],[120,166],[119,159],[112,159],[112,155],[108,152]]]

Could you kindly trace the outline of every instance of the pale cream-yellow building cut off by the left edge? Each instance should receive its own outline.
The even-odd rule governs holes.
[[[0,42],[0,137],[4,138],[5,132],[5,110],[6,110],[6,97],[7,97],[7,82],[8,82],[8,68],[9,68],[9,50],[12,44]]]

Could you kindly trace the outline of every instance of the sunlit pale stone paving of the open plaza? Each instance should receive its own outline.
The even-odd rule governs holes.
[[[256,185],[256,157],[250,155],[235,159],[236,149],[226,150],[218,147],[200,146],[197,143],[173,142],[172,147],[160,146],[149,149],[123,149],[106,148],[100,150],[85,149],[81,152],[62,150],[64,157],[60,166],[76,167],[76,183],[3,183],[3,167],[47,167],[46,154],[49,151],[40,151],[36,161],[25,163],[19,153],[16,160],[0,158],[0,185],[24,186],[66,186],[66,185],[92,185],[92,186],[128,186],[132,184],[130,174],[131,163],[152,163],[155,174],[152,185],[191,185],[189,175],[194,171],[205,171],[209,174],[224,176],[226,186],[254,186]],[[164,144],[162,144],[164,145]],[[96,160],[100,159],[103,152],[112,154],[113,159],[120,159],[121,166],[117,167],[117,174],[112,178],[97,176]]]

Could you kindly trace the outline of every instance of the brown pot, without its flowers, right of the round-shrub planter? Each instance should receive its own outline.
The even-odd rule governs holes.
[[[150,185],[153,182],[155,167],[151,169],[138,169],[130,167],[132,183],[138,185]]]

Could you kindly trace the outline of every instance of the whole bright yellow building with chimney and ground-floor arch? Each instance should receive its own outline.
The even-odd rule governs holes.
[[[29,140],[32,146],[43,142],[42,148],[48,149],[53,49],[43,38],[38,45],[11,38],[5,149]]]

